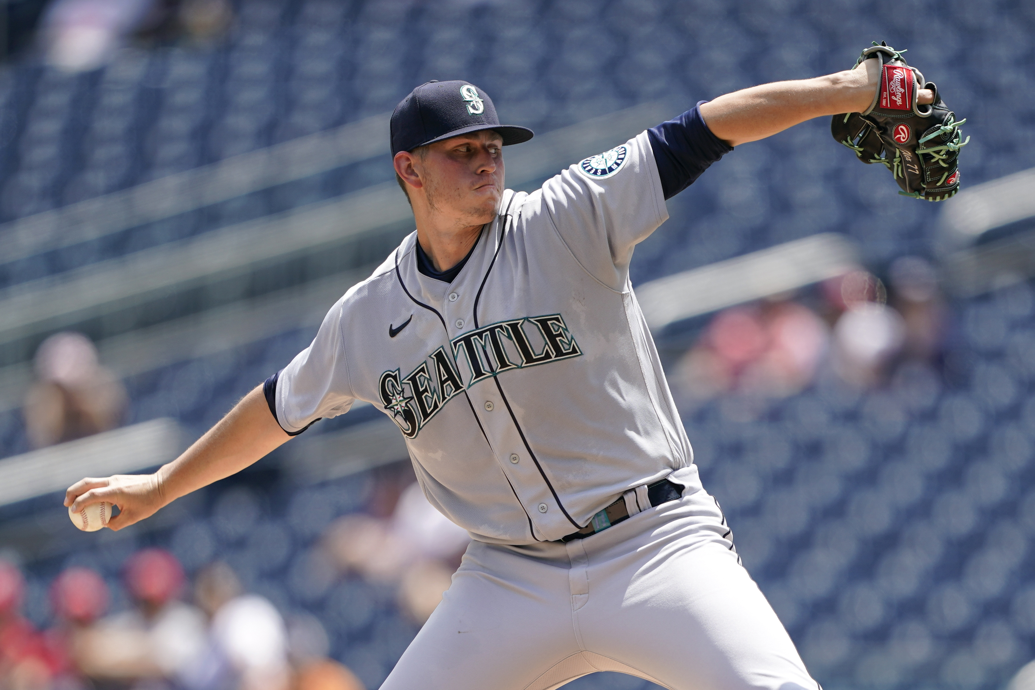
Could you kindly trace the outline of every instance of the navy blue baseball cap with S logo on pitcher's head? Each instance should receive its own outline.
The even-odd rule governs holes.
[[[391,154],[479,129],[498,131],[503,146],[533,137],[528,127],[500,124],[493,99],[473,84],[431,81],[411,91],[391,114]]]

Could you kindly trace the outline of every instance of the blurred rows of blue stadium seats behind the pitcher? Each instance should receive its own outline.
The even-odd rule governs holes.
[[[587,136],[564,151],[573,161],[698,100],[851,66],[886,39],[968,118],[967,187],[1035,167],[1033,6],[240,0],[212,46],[130,47],[79,73],[27,51],[0,68],[0,455],[30,450],[22,396],[57,330],[97,342],[124,380],[127,423],[172,418],[191,438],[290,361],[411,227],[377,128],[421,82],[470,80],[543,134],[575,125]],[[508,180],[559,169],[550,150]],[[955,202],[895,192],[826,121],[806,123],[670,201],[634,283],[819,233],[854,240],[881,276],[904,254],[945,261]],[[944,356],[876,390],[823,369],[788,397],[702,402],[674,381],[705,485],[827,690],[995,688],[1035,656],[1035,289],[1006,277],[944,284],[962,295]],[[667,365],[706,321],[655,333]],[[100,572],[117,609],[136,549],[169,548],[188,574],[218,554],[283,613],[320,619],[331,656],[377,687],[416,627],[394,590],[337,576],[318,553],[328,524],[369,506],[381,475],[365,468],[405,459],[333,470],[335,434],[375,414],[321,422],[297,450],[120,533],[71,531],[54,493],[0,507],[27,617],[50,624],[47,590],[68,566]],[[319,458],[299,471],[306,449]],[[570,687],[647,686],[603,674]]]

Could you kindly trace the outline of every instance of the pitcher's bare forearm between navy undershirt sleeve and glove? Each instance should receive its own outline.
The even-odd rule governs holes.
[[[880,61],[871,59],[826,77],[752,86],[703,103],[701,116],[717,138],[739,146],[815,117],[866,110],[880,73]],[[920,89],[917,100],[929,103],[934,96],[929,89]]]

